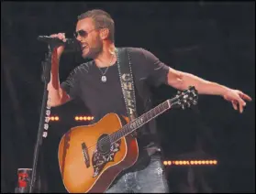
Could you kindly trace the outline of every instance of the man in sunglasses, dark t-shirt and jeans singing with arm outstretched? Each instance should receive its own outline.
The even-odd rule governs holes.
[[[115,47],[114,21],[103,10],[90,10],[78,16],[75,38],[83,59],[92,59],[76,67],[66,81],[59,81],[59,62],[64,46],[54,48],[50,83],[50,106],[59,106],[80,98],[99,121],[107,113],[128,116],[118,74],[119,56]],[[51,35],[65,41],[64,33]],[[126,48],[133,72],[138,115],[150,110],[151,87],[167,84],[177,90],[195,86],[199,94],[222,96],[239,113],[250,96],[217,82],[203,80],[191,73],[174,70],[143,48]],[[141,87],[142,86],[142,87]],[[169,192],[161,161],[160,142],[155,121],[145,124],[137,134],[139,158],[124,170],[104,192]],[[155,150],[153,153],[150,150]]]

